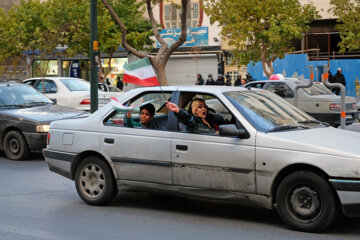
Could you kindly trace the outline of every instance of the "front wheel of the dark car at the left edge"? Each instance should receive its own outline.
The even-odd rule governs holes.
[[[24,160],[29,156],[25,137],[18,131],[10,131],[4,137],[4,152],[11,160]]]

